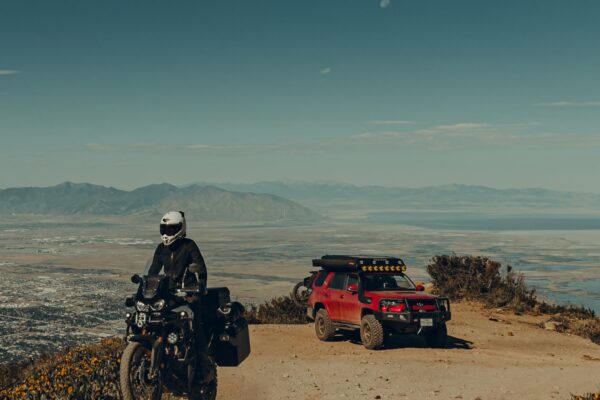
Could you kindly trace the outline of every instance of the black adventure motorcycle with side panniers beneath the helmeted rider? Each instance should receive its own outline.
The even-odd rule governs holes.
[[[197,266],[189,271],[197,273]],[[217,365],[238,366],[250,354],[244,307],[230,302],[227,288],[177,287],[164,275],[134,275],[131,281],[138,290],[125,301],[135,312],[126,315],[123,399],[159,400],[163,391],[190,400],[216,399]],[[208,382],[198,376],[194,312],[202,321],[196,329],[203,329],[208,341]]]

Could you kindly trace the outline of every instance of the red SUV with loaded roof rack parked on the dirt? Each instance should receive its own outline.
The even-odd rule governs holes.
[[[309,318],[320,340],[338,330],[360,330],[367,349],[383,346],[386,336],[422,335],[431,347],[445,347],[450,301],[422,293],[395,257],[324,256],[313,260],[321,270],[309,288]]]

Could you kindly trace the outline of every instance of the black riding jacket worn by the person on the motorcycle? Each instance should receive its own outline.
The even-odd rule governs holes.
[[[200,249],[192,239],[181,238],[168,246],[161,243],[154,252],[148,275],[159,275],[164,268],[165,275],[171,277],[177,283],[182,283],[184,282],[183,274],[190,264],[200,266],[198,278],[206,282],[206,264]],[[190,286],[196,283],[195,274],[188,271],[185,276],[185,285]]]

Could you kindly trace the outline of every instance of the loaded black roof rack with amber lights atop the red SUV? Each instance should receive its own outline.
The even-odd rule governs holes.
[[[326,255],[313,260],[313,267],[326,270],[365,272],[406,271],[406,264],[398,257]]]

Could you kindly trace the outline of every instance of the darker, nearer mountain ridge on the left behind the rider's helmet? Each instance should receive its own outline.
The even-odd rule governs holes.
[[[198,220],[313,221],[310,209],[272,194],[234,192],[210,185],[170,184],[135,190],[65,182],[52,187],[0,190],[0,211],[13,214],[148,215],[185,210]]]

